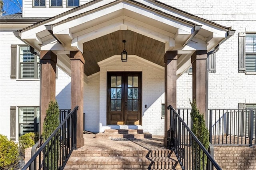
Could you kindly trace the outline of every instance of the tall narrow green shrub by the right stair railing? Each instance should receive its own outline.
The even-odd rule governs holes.
[[[206,150],[208,150],[208,148],[209,148],[209,132],[205,125],[204,115],[200,114],[200,111],[196,107],[195,100],[193,100],[193,102],[190,101],[190,105],[192,107],[192,110],[190,113],[191,119],[193,121],[192,132],[196,135],[196,137],[204,145]],[[207,156],[204,155],[204,157],[203,157],[203,151],[200,149],[198,144],[196,144],[196,142],[193,142],[193,151],[194,151],[194,154],[197,154],[197,155],[194,155],[194,159],[196,158],[196,160],[194,160],[194,169],[195,170],[205,169],[205,167],[203,167],[203,160],[204,160],[204,165],[206,165]],[[200,162],[200,164],[199,164],[199,162]]]

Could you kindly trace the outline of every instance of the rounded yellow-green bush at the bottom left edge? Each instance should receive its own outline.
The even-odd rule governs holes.
[[[0,169],[14,170],[19,162],[18,145],[0,134]]]

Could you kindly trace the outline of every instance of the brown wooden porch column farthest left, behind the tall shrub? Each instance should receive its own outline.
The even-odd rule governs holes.
[[[52,51],[41,51],[41,98],[40,98],[40,134],[49,102],[55,100],[57,55]]]

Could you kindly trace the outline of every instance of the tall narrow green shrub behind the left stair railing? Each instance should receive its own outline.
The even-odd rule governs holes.
[[[52,132],[54,132],[54,130],[59,126],[60,124],[59,117],[60,117],[60,112],[59,112],[57,101],[50,101],[48,105],[48,109],[46,110],[46,117],[43,123],[42,137],[44,142],[52,135]],[[54,138],[52,141],[54,141]],[[49,167],[47,167],[47,169],[54,168],[54,167],[51,167],[51,162],[54,160],[54,157],[55,157],[55,160],[58,159],[58,155],[57,155],[58,152],[55,152],[55,149],[57,150],[57,148],[53,147],[53,144],[50,141],[49,150],[48,148],[46,148],[46,152],[52,152],[53,154],[49,153],[49,155],[48,156],[46,155],[45,157],[45,163],[49,161]],[[56,164],[53,166],[57,167],[58,163],[56,162]]]

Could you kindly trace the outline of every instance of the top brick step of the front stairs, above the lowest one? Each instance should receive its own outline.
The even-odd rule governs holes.
[[[146,157],[148,150],[130,148],[130,149],[96,149],[91,150],[90,148],[84,150],[73,150],[72,157],[109,157],[109,156],[141,156]]]

